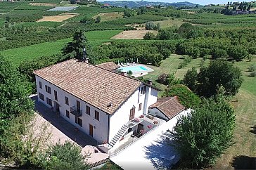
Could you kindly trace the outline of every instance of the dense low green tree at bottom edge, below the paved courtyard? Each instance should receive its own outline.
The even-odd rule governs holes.
[[[89,165],[87,164],[88,157],[88,153],[82,155],[82,150],[78,145],[66,141],[64,144],[57,143],[46,151],[42,166],[46,170],[89,169]]]

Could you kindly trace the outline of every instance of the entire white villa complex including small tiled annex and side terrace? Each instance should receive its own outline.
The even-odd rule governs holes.
[[[179,115],[190,112],[177,97],[158,98],[152,81],[117,69],[115,63],[72,59],[34,71],[39,102],[97,140],[110,157],[162,124],[172,129]]]

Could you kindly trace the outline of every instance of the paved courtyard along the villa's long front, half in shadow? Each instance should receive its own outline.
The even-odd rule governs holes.
[[[38,123],[43,124],[49,122],[49,129],[51,130],[52,137],[50,143],[65,143],[66,140],[77,143],[82,148],[82,153],[91,153],[88,162],[93,164],[103,159],[108,158],[108,154],[101,152],[96,148],[97,141],[91,136],[76,131],[76,127],[53,112],[49,107],[38,102],[37,96],[33,96],[32,100],[35,103],[35,111],[37,114]]]

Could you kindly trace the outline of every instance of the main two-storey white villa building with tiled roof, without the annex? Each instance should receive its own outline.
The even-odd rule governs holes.
[[[34,72],[39,101],[98,143],[115,145],[117,132],[148,112],[158,89],[80,60],[67,60]],[[143,126],[140,126],[143,129]],[[121,136],[120,136],[121,137]]]

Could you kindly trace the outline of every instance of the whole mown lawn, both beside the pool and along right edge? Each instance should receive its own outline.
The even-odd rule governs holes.
[[[182,79],[189,68],[199,69],[201,58],[193,59],[186,67],[177,69],[182,61],[181,58],[181,55],[172,54],[162,61],[160,67],[148,65],[155,71],[144,78],[156,80],[162,73],[175,73],[176,77]],[[205,65],[208,63],[209,60],[206,60]],[[209,169],[250,169],[254,164],[252,157],[256,157],[256,128],[253,128],[256,127],[256,77],[248,77],[250,74],[248,67],[252,64],[256,65],[256,58],[253,58],[252,62],[244,60],[234,63],[241,69],[244,79],[241,89],[231,101],[236,114],[236,129],[233,138],[235,143],[217,160],[217,164]],[[156,86],[160,89],[166,88],[158,83]]]

